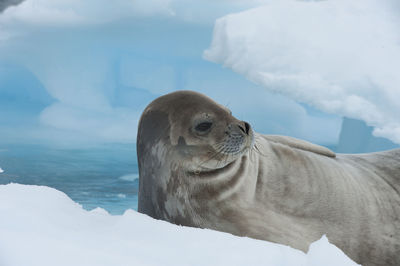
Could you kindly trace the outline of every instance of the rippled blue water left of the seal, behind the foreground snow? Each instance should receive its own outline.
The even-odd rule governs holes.
[[[0,184],[44,185],[66,193],[85,209],[111,214],[137,210],[135,145],[61,149],[0,144]]]

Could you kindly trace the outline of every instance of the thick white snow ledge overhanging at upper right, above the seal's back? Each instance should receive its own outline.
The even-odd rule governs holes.
[[[208,60],[400,143],[399,5],[271,1],[218,19]]]

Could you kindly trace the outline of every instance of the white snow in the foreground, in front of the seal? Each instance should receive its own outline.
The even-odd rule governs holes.
[[[308,254],[287,246],[176,226],[133,210],[86,211],[44,186],[0,185],[0,264],[356,265],[326,237]]]

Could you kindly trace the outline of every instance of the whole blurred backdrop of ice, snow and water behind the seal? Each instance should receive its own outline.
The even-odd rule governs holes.
[[[140,114],[186,89],[259,133],[399,147],[399,5],[332,2],[0,1],[0,183],[136,209]]]

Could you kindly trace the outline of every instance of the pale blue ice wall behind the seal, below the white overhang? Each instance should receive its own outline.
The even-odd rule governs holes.
[[[26,0],[9,7],[0,14],[0,137],[134,143],[147,104],[189,89],[260,133],[335,144],[340,116],[309,112],[202,59],[215,18],[262,2]]]

